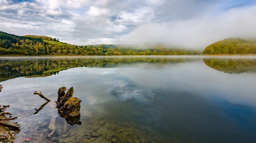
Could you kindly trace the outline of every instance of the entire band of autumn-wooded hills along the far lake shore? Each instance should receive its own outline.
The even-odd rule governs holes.
[[[170,48],[164,44],[136,48],[135,45],[71,45],[49,36],[18,36],[0,31],[0,56],[139,56],[139,55],[256,55],[256,40],[229,38],[203,51]]]

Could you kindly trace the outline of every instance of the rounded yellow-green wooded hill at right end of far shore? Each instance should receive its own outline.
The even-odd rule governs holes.
[[[256,40],[224,39],[207,46],[203,54],[256,54]]]

